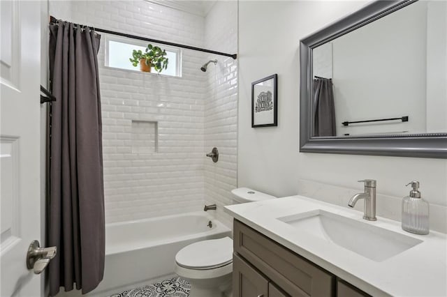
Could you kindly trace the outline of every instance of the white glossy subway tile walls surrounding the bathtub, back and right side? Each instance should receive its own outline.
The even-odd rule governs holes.
[[[71,22],[197,47],[216,45],[215,50],[231,52],[237,49],[237,4],[235,8],[234,24],[226,24],[226,15],[215,11],[225,26],[205,33],[205,22],[218,20],[147,1],[50,1],[50,14]],[[205,43],[207,36],[220,34],[225,36]],[[117,70],[104,66],[104,39],[98,63],[106,222],[198,211],[205,203],[205,183],[207,195],[217,194],[207,201],[230,204],[229,191],[236,183],[236,62],[218,56],[219,75],[203,73],[200,66],[207,54],[182,50],[182,77]],[[232,49],[223,48],[228,42]],[[132,149],[132,122],[144,121],[157,122],[158,153]],[[221,146],[219,167],[210,167],[207,146]],[[217,181],[209,181],[208,172]]]

